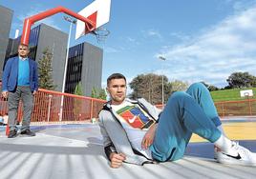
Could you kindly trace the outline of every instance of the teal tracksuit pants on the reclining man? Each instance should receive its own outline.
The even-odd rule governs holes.
[[[150,149],[161,162],[180,159],[192,133],[214,143],[221,136],[222,123],[210,92],[202,83],[195,83],[186,92],[175,92],[160,114],[154,142]]]

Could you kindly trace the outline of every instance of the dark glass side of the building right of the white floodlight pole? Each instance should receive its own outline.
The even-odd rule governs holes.
[[[79,44],[69,50],[65,92],[75,93],[75,87],[81,81],[83,50],[84,44]]]

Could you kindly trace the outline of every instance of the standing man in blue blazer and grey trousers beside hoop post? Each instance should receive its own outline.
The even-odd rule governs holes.
[[[10,58],[5,66],[2,79],[2,95],[8,98],[10,133],[8,138],[17,136],[17,111],[19,101],[23,103],[21,134],[35,136],[30,129],[33,95],[38,90],[37,64],[28,57],[29,47],[20,44],[18,56]]]

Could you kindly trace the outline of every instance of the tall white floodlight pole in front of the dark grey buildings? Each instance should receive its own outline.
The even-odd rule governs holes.
[[[68,68],[68,59],[69,59],[69,51],[70,51],[71,30],[72,30],[73,24],[76,24],[76,20],[72,19],[69,16],[64,16],[64,19],[66,21],[70,22],[70,31],[69,31],[66,59],[65,59],[65,67],[64,67],[64,74],[63,74],[62,89],[61,89],[62,93],[65,92],[66,76],[67,76],[67,68]],[[62,121],[63,103],[64,103],[64,96],[62,95],[61,96],[61,103],[60,103],[59,121]]]

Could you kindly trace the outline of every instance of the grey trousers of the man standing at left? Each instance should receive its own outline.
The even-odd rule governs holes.
[[[23,120],[21,131],[30,129],[32,107],[33,107],[33,95],[29,86],[18,86],[14,92],[9,92],[8,97],[8,115],[10,129],[16,128],[17,112],[19,107],[19,101],[23,104]]]

